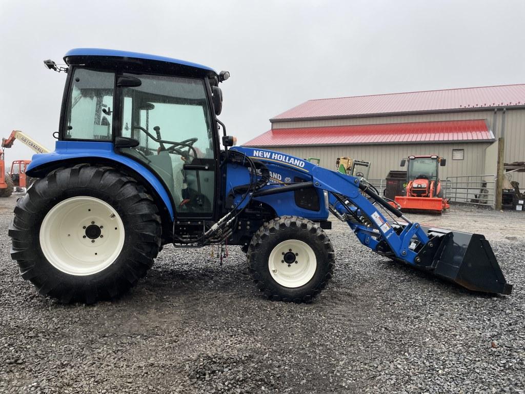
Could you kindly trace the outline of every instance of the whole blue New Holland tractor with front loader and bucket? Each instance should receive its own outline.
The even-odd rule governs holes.
[[[217,119],[228,72],[107,49],[74,49],[64,59],[60,67],[45,61],[67,74],[55,151],[33,156],[27,174],[38,180],[9,227],[20,274],[41,294],[113,299],[164,244],[227,243],[246,253],[268,298],[309,302],[334,269],[329,217],[382,256],[510,294],[482,235],[413,223],[351,175],[233,147]]]

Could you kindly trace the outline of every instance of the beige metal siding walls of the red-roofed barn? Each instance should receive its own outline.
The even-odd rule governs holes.
[[[444,120],[471,120],[485,119],[488,128],[495,137],[505,137],[505,162],[525,161],[525,109],[508,109],[503,115],[503,109],[497,111],[478,110],[464,112],[441,112],[425,113],[416,115],[376,116],[361,118],[337,118],[318,120],[298,120],[272,122],[272,129],[300,128],[300,127],[323,127],[323,126],[346,126],[346,125],[373,125],[381,123],[404,123],[404,122],[428,122]],[[480,174],[485,171],[485,148],[488,143],[461,144],[465,149],[465,160],[455,163],[451,160],[451,149],[454,144],[429,144],[419,146],[417,144],[390,145],[390,146],[356,146],[356,147],[315,147],[315,148],[270,148],[283,152],[292,153],[295,149],[301,157],[319,157],[323,155],[323,165],[332,168],[335,158],[343,156],[355,159],[373,161],[371,177],[383,178],[388,170],[398,168],[398,159],[408,154],[440,154],[446,157],[450,165],[444,169],[444,174]],[[458,144],[459,145],[459,144]],[[468,148],[467,148],[468,147]],[[468,150],[467,150],[468,149]],[[437,151],[439,150],[439,151]],[[319,152],[316,154],[315,152]],[[345,153],[346,152],[346,153]],[[349,153],[351,152],[351,153]],[[467,154],[468,152],[468,154]],[[372,160],[367,159],[370,157]],[[395,159],[394,159],[395,157]],[[490,158],[488,158],[490,159]],[[325,164],[329,163],[329,164]],[[394,167],[392,167],[394,166]],[[492,167],[492,166],[490,166]],[[383,175],[381,175],[383,174]],[[521,189],[525,189],[525,173],[513,173],[511,180],[520,182]]]

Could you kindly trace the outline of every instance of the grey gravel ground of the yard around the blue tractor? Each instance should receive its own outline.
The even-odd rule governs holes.
[[[525,214],[453,208],[414,220],[485,233],[514,284],[474,294],[367,250],[334,223],[331,285],[269,302],[230,248],[223,266],[166,247],[118,302],[60,305],[9,257],[0,201],[0,392],[525,393]]]

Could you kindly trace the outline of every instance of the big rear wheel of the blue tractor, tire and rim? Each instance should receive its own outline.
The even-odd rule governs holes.
[[[156,205],[133,178],[79,164],[37,180],[15,208],[11,256],[41,294],[63,303],[119,297],[153,265]]]

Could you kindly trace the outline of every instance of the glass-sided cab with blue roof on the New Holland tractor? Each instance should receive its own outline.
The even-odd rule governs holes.
[[[74,49],[64,59],[59,141],[91,152],[111,149],[142,165],[167,191],[173,215],[213,217],[220,183],[217,85],[229,73],[104,49]]]

